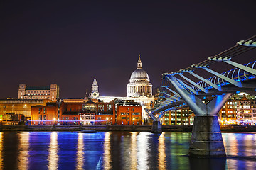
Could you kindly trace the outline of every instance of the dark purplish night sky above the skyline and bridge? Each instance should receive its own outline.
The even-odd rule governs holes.
[[[126,96],[139,54],[155,88],[162,73],[255,35],[255,7],[256,1],[2,0],[0,98],[17,98],[18,84],[58,84],[60,98],[83,98],[94,77],[100,96]]]

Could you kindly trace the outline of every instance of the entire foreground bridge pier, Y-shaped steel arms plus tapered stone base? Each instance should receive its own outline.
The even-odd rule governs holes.
[[[218,123],[218,112],[232,94],[215,96],[208,103],[188,90],[188,86],[174,77],[166,77],[178,91],[196,117],[193,122],[189,156],[225,157],[225,147]],[[186,88],[185,88],[186,87]]]

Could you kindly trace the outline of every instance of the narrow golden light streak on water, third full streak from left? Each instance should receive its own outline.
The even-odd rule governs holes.
[[[78,151],[77,151],[76,169],[83,169],[84,158],[85,158],[83,155],[83,149],[84,149],[83,134],[78,133]]]

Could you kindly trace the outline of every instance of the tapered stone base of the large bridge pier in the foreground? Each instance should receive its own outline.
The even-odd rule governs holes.
[[[196,116],[188,155],[191,157],[225,157],[218,116]]]

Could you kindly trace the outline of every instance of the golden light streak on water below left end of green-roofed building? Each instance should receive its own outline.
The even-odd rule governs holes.
[[[18,169],[28,169],[29,132],[19,133]]]

